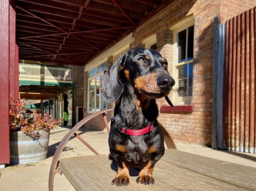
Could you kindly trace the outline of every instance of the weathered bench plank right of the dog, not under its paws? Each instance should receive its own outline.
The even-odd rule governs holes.
[[[161,160],[230,185],[256,191],[256,168],[253,167],[177,150],[166,150]]]

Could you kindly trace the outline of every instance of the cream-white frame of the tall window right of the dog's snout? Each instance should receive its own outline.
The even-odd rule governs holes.
[[[188,65],[190,63],[193,63],[194,59],[189,61],[183,61],[181,63],[178,63],[178,42],[177,42],[177,35],[179,32],[189,28],[190,26],[194,25],[194,18],[193,16],[190,16],[189,18],[184,19],[183,21],[179,22],[178,24],[174,25],[170,30],[173,31],[173,77],[176,81],[176,85],[173,87],[173,102],[175,104],[190,104],[192,100],[192,96],[178,96],[178,67],[182,65]],[[188,30],[186,32],[186,39],[188,39]],[[188,48],[188,41],[186,41],[186,59],[187,59],[187,48]],[[193,48],[194,49],[194,48]],[[194,57],[194,56],[193,56]],[[189,72],[189,68],[188,68]],[[188,75],[187,75],[188,76]],[[192,82],[193,83],[193,82]],[[188,88],[188,86],[187,86]],[[187,89],[188,93],[188,89]]]

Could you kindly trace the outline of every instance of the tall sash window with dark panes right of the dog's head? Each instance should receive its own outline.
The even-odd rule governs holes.
[[[194,25],[191,22],[182,24],[174,31],[174,42],[174,100],[176,103],[189,104],[193,82]]]

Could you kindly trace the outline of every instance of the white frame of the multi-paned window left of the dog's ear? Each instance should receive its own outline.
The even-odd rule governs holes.
[[[100,73],[98,73],[98,66],[103,64],[104,62],[106,62],[107,59],[104,59],[101,63],[97,64],[95,67],[91,68],[90,70],[96,68],[96,75],[92,76],[92,77],[89,77],[89,71],[88,70],[88,79],[87,79],[87,84],[88,84],[88,87],[87,87],[87,113],[95,113],[95,112],[98,112],[98,111],[101,111],[101,96],[102,96],[102,87],[101,87],[101,76],[104,74],[104,71],[101,71]],[[99,110],[96,110],[96,94],[94,94],[94,111],[90,111],[90,92],[92,91],[96,91],[96,78],[97,77],[100,77],[100,97],[99,97]],[[95,85],[94,85],[94,90],[91,90],[90,91],[90,81],[95,79]]]

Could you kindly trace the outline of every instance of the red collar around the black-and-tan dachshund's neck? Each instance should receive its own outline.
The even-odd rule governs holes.
[[[131,129],[127,129],[126,127],[120,127],[118,126],[118,124],[116,123],[116,128],[118,129],[119,132],[124,133],[125,135],[131,135],[131,136],[141,136],[147,133],[151,133],[153,131],[154,128],[154,121],[151,122],[148,126],[146,126],[143,129],[139,129],[139,130],[131,130]]]

